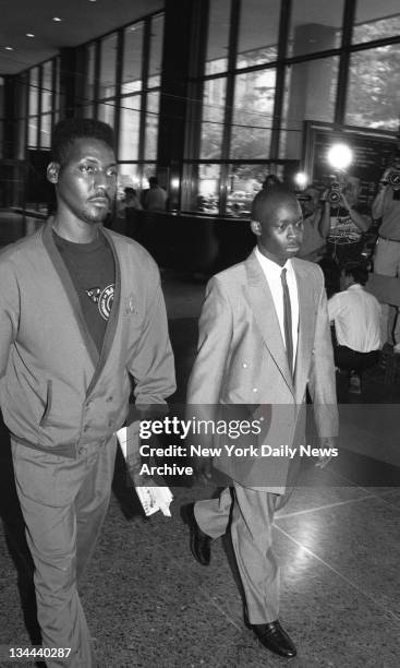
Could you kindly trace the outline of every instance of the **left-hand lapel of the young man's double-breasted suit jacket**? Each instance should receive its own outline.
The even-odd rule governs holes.
[[[288,357],[275,310],[268,282],[255,253],[245,261],[247,274],[249,301],[258,324],[258,329],[271,357],[274,358],[288,387],[294,394],[293,379],[290,373]]]

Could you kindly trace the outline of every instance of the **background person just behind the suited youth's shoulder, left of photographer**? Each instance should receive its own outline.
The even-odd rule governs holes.
[[[298,258],[308,262],[319,262],[326,251],[326,240],[319,232],[323,208],[316,186],[308,186],[302,193],[303,241]]]

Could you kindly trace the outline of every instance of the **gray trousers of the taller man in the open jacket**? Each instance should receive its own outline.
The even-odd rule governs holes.
[[[76,583],[100,533],[111,493],[116,437],[90,443],[76,460],[11,441],[16,490],[35,563],[43,646],[71,647],[48,668],[96,666]]]

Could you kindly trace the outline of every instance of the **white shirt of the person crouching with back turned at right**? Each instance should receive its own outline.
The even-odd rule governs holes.
[[[380,347],[380,312],[378,300],[359,283],[328,300],[329,320],[335,322],[339,346],[359,353]]]

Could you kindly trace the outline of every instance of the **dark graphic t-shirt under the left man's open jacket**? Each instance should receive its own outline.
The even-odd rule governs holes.
[[[90,243],[74,243],[54,231],[53,237],[80,297],[87,329],[100,351],[116,287],[111,248],[104,235]]]

